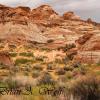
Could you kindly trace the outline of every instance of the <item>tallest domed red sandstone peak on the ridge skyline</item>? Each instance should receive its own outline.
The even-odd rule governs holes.
[[[31,15],[32,18],[36,20],[59,18],[59,15],[49,5],[42,5],[36,9],[33,9]]]

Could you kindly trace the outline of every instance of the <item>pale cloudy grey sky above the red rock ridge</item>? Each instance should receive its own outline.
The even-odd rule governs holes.
[[[0,3],[13,7],[29,6],[31,8],[49,4],[59,14],[74,11],[82,19],[91,18],[100,22],[100,0],[0,0]]]

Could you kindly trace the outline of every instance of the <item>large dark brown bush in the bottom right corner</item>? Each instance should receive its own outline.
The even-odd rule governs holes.
[[[100,79],[94,76],[78,79],[71,92],[77,100],[100,100]]]

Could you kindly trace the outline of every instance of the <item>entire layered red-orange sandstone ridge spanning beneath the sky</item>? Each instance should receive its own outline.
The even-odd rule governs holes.
[[[48,40],[53,42],[48,43]],[[90,19],[82,20],[71,11],[60,16],[49,5],[32,10],[0,5],[0,43],[3,42],[37,43],[51,49],[75,43],[78,53],[87,55],[84,52],[100,52],[100,24]]]

